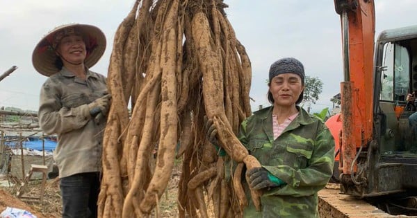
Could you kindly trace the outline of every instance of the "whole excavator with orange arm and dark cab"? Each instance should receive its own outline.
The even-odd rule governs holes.
[[[336,141],[340,192],[390,215],[417,215],[417,26],[384,30],[375,42],[373,0],[334,0],[341,17],[341,113],[326,124]],[[417,125],[417,123],[416,123]]]

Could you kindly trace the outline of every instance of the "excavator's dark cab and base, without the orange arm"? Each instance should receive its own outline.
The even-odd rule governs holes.
[[[383,31],[374,58],[372,140],[357,148],[352,174],[339,172],[341,192],[417,215],[417,132],[409,125],[417,105],[407,101],[417,93],[417,26]]]

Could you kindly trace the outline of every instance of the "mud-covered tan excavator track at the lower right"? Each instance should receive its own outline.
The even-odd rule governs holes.
[[[389,215],[362,199],[341,194],[336,183],[328,183],[326,188],[318,192],[318,210],[320,218],[409,217]]]

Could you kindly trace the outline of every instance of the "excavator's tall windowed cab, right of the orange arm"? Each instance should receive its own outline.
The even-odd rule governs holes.
[[[409,124],[416,105],[407,101],[416,91],[417,26],[385,30],[375,44],[375,194],[417,199],[417,132]]]

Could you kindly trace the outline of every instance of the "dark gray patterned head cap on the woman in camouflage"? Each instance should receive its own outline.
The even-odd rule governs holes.
[[[284,57],[274,62],[270,66],[269,82],[281,73],[295,73],[300,75],[302,84],[304,84],[304,66],[294,57]]]

